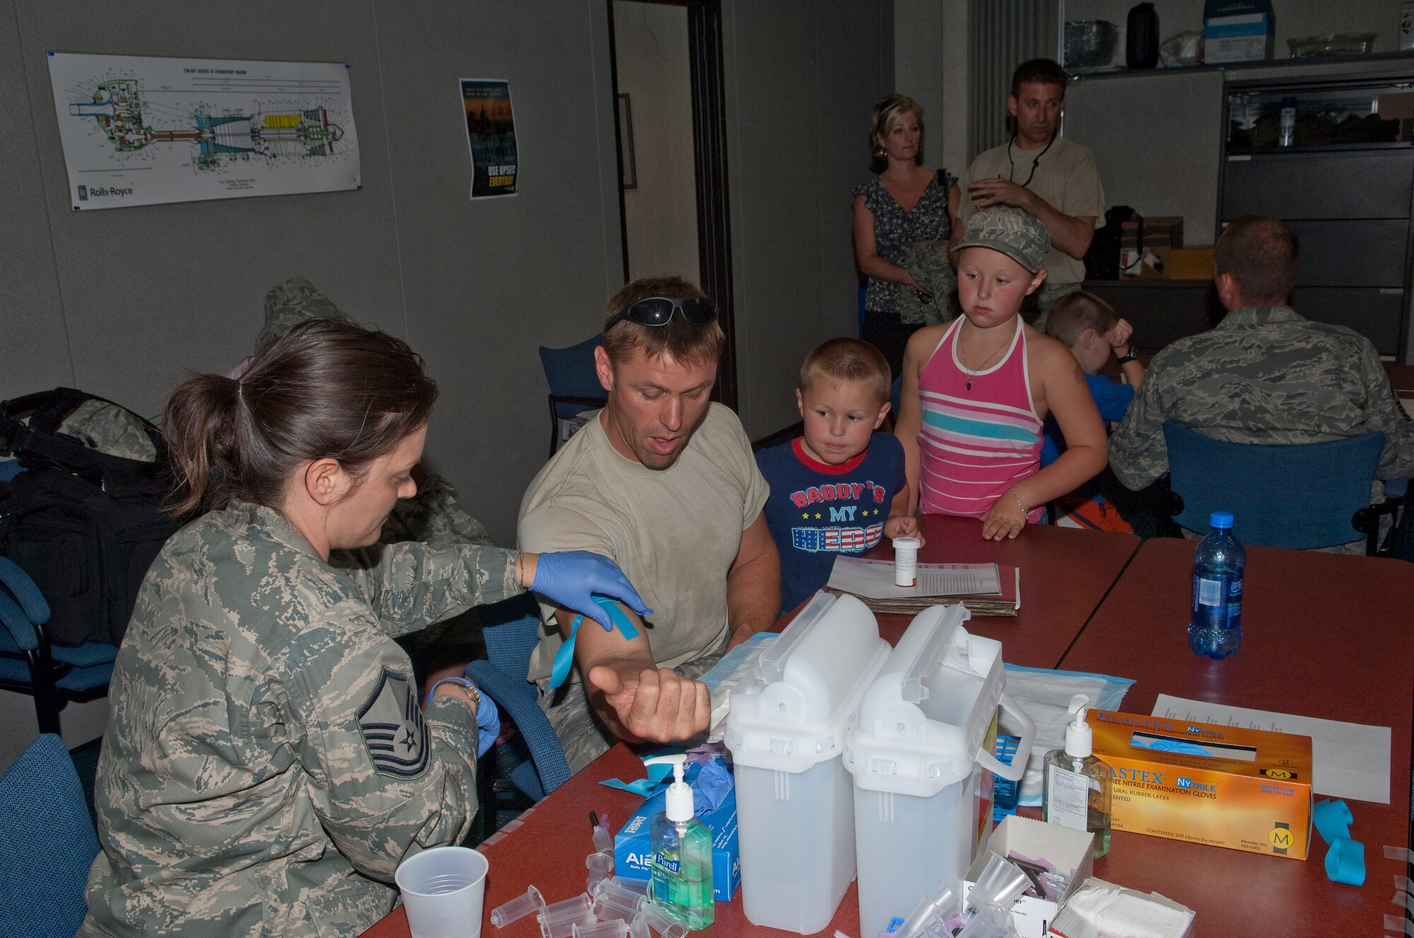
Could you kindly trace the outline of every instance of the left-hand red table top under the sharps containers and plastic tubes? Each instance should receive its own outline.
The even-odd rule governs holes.
[[[1028,526],[1014,541],[984,541],[981,523],[974,518],[923,516],[919,518],[926,545],[919,559],[933,564],[1011,564],[1021,568],[1021,610],[1015,617],[984,617],[967,623],[973,634],[1003,643],[1003,657],[1029,667],[1055,667],[1085,627],[1110,585],[1138,548],[1131,534],[1109,534]],[[889,548],[875,557],[891,557]],[[896,643],[911,619],[881,616],[880,634]],[[592,852],[588,812],[608,812],[615,828],[638,809],[642,798],[607,788],[605,778],[641,778],[643,764],[626,747],[615,746],[557,788],[549,798],[506,825],[478,849],[491,862],[486,876],[485,914],[534,884],[546,901],[554,903],[583,893],[587,870],[584,856]],[[735,935],[756,930],[742,914],[740,900],[718,903],[715,924],[701,934]],[[826,930],[847,935],[860,930],[855,887],[851,884]],[[533,938],[539,927],[533,915],[505,930],[489,918],[482,934],[493,938]],[[782,932],[783,934],[783,932]],[[407,918],[395,908],[365,932],[366,938],[407,938]]]

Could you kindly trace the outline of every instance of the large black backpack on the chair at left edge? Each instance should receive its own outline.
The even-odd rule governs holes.
[[[171,472],[151,422],[133,414],[156,462],[110,456],[58,431],[89,400],[112,404],[71,387],[0,403],[0,449],[25,469],[0,483],[0,555],[40,586],[49,641],[69,647],[123,640],[147,568],[184,523],[163,511]]]

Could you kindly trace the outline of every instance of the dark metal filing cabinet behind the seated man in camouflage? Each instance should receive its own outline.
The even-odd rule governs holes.
[[[1411,73],[1414,81],[1414,73]],[[1350,326],[1408,360],[1414,230],[1414,121],[1381,120],[1414,85],[1389,76],[1227,85],[1219,216],[1274,215],[1301,239],[1291,305]],[[1403,99],[1414,100],[1414,99]],[[1282,103],[1295,103],[1290,143]]]

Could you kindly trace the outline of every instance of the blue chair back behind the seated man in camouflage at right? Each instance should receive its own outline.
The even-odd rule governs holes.
[[[1244,544],[1316,548],[1366,540],[1379,547],[1380,516],[1403,499],[1370,504],[1370,482],[1384,434],[1321,444],[1229,444],[1167,421],[1169,487],[1175,521],[1208,533],[1213,511],[1233,513]]]

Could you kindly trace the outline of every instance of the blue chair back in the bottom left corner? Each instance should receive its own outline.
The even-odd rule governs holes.
[[[0,935],[71,938],[98,835],[64,740],[44,733],[0,776]]]

